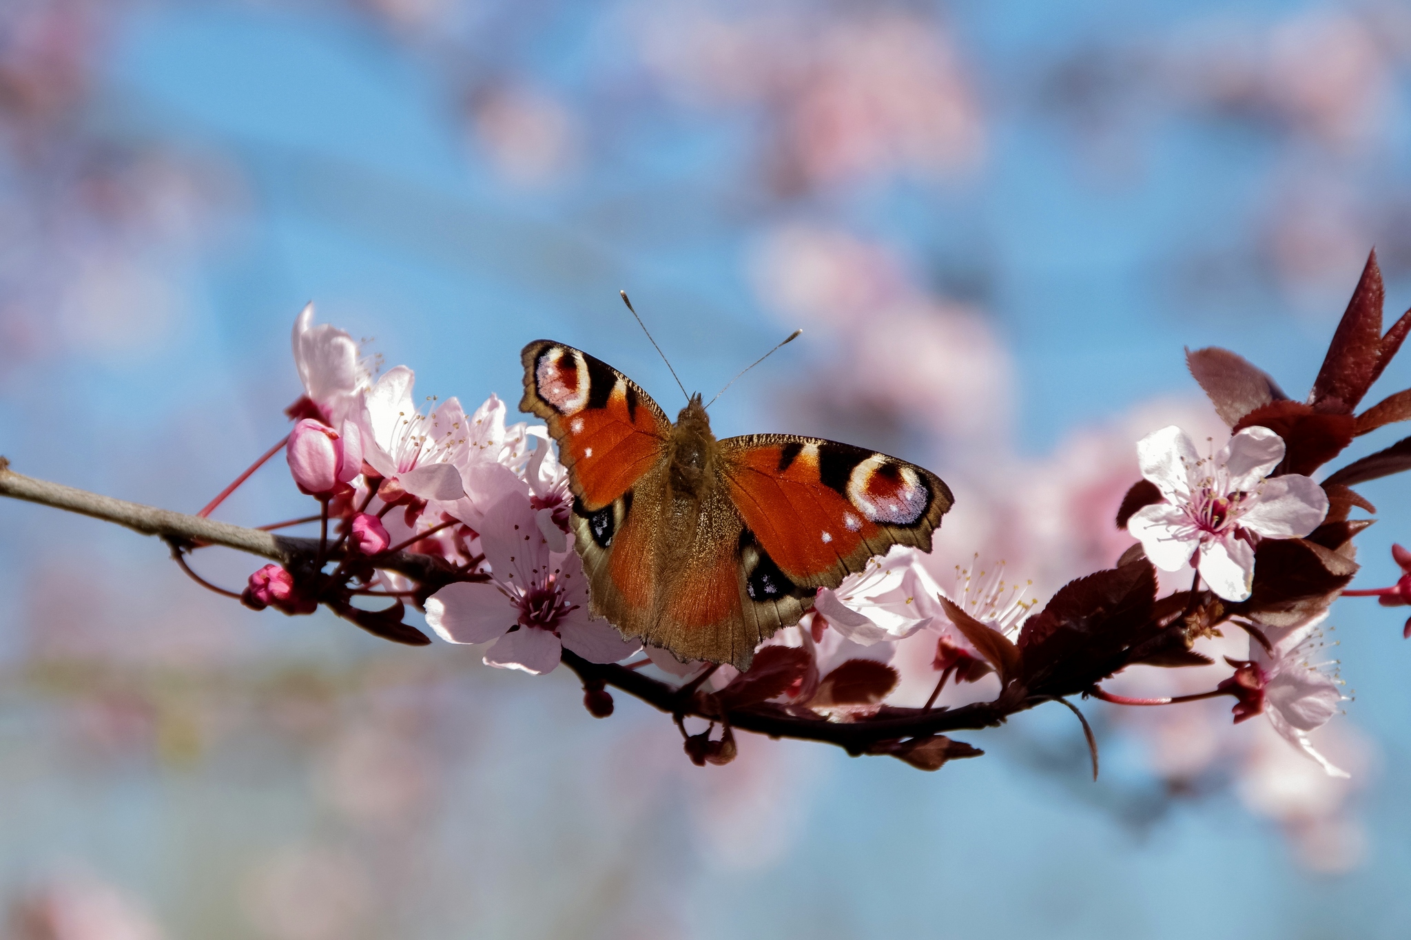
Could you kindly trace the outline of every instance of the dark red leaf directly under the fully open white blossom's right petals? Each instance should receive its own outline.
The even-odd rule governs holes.
[[[1357,562],[1305,538],[1266,538],[1254,548],[1247,600],[1229,612],[1287,627],[1325,609],[1357,572]]]

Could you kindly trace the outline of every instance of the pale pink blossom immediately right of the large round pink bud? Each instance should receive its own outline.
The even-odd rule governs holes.
[[[457,500],[466,495],[456,468],[467,450],[466,416],[456,399],[422,414],[412,402],[413,383],[412,371],[399,365],[363,392],[363,459],[412,496]]]

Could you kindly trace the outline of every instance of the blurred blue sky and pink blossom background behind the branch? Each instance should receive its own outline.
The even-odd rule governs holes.
[[[426,395],[514,404],[552,337],[674,413],[626,287],[707,395],[804,327],[717,433],[923,462],[958,496],[943,583],[978,552],[1046,596],[1130,543],[1139,437],[1219,433],[1182,345],[1298,397],[1373,245],[1411,304],[1408,78],[1393,0],[7,0],[0,452],[193,512],[285,434],[310,299]],[[1405,485],[1364,488],[1359,583],[1393,576]],[[275,459],[217,517],[308,506]],[[17,940],[1411,923],[1411,647],[1370,603],[1329,621],[1348,784],[1221,702],[1086,703],[1096,785],[1057,706],[934,775],[748,736],[698,769],[563,672],[255,614],[54,510],[0,533]],[[209,551],[227,586],[258,567]]]

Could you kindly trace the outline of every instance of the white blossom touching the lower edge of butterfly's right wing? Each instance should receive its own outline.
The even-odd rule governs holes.
[[[871,558],[838,588],[820,588],[814,609],[842,637],[861,645],[900,640],[930,626],[940,614],[935,582],[921,568],[914,548],[895,547]]]

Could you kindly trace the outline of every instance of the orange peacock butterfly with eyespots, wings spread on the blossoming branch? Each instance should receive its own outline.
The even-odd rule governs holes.
[[[748,669],[892,545],[931,550],[954,499],[935,474],[794,434],[715,440],[701,396],[673,424],[632,379],[552,340],[523,348],[519,410],[543,419],[573,492],[590,614],[680,660]]]

